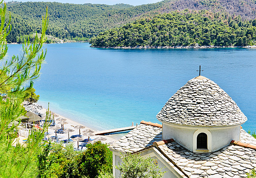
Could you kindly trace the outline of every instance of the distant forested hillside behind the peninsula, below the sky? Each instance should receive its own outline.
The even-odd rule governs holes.
[[[40,31],[40,22],[48,6],[49,26],[47,35],[61,39],[86,40],[114,27],[140,18],[173,10],[225,11],[242,20],[256,18],[255,0],[164,0],[154,4],[130,6],[117,4],[63,4],[58,2],[8,2],[11,11],[12,30],[7,40],[20,41],[19,36]]]

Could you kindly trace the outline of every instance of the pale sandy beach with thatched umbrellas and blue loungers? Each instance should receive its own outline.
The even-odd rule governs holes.
[[[46,113],[46,109],[43,108],[42,110],[40,110],[40,113]],[[61,127],[61,124],[59,124],[60,121],[57,121],[56,119],[65,118],[66,119],[65,122],[68,122],[68,124],[64,124],[64,129],[68,128],[68,129],[74,130],[73,132],[69,132],[70,139],[71,139],[72,135],[79,135],[79,129],[75,129],[74,127],[78,126],[78,125],[81,125],[81,126],[84,126],[84,125],[82,125],[82,124],[80,124],[78,122],[75,122],[75,121],[71,120],[70,118],[64,117],[62,115],[59,115],[58,113],[55,113],[55,112],[51,111],[51,115],[52,114],[54,115],[55,126]],[[44,118],[45,117],[43,117],[42,124],[44,123]],[[52,118],[52,116],[51,116],[51,118]],[[85,128],[80,130],[81,131],[81,137],[84,138],[84,139],[88,139],[88,136],[83,136],[83,134],[84,134],[83,131],[87,130],[87,129],[93,130],[93,129],[91,129],[89,127],[86,127],[86,126],[85,126]],[[93,131],[96,131],[96,130],[93,130]],[[68,133],[59,132],[57,130],[56,134],[57,134],[57,137],[58,137],[58,141],[64,141],[64,140],[68,139]],[[54,140],[54,138],[55,138],[55,130],[51,129],[51,126],[48,128],[48,134],[47,134],[46,137],[47,137],[47,139],[51,139],[52,138],[52,140]],[[94,141],[100,140],[102,143],[111,144],[111,142],[116,141],[115,138],[112,138],[112,137],[109,137],[109,136],[105,136],[105,135],[95,135],[95,136],[91,136],[89,138],[90,138],[89,142],[94,142]],[[74,148],[77,148],[77,141],[73,141],[73,143],[74,143]],[[84,143],[87,143],[87,142],[79,141],[79,149],[82,148],[82,145]],[[85,147],[83,147],[83,148],[85,148]]]

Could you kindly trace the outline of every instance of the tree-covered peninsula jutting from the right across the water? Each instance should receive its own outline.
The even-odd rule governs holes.
[[[93,47],[247,46],[256,43],[256,19],[184,10],[140,19],[99,33]]]

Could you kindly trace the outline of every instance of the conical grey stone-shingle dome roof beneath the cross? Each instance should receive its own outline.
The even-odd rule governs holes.
[[[212,80],[189,80],[156,115],[162,122],[191,126],[230,126],[247,118],[231,97]]]

